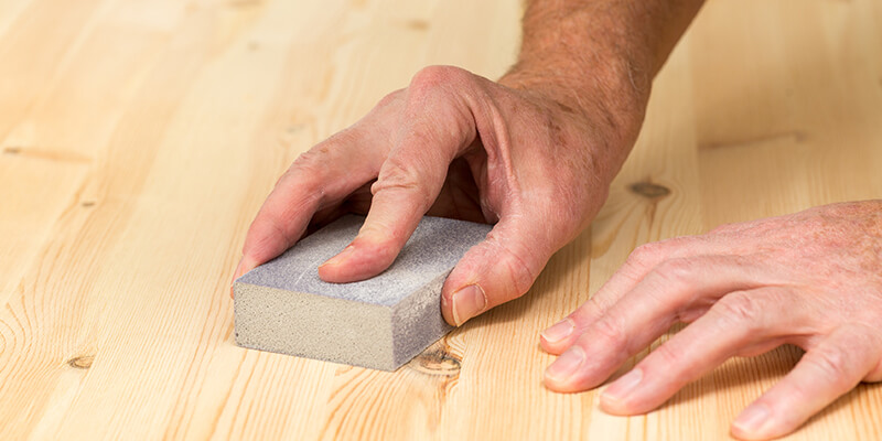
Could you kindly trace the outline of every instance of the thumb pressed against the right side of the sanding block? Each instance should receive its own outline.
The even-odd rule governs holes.
[[[456,263],[441,291],[444,320],[460,326],[524,295],[551,257],[544,228],[504,217]]]

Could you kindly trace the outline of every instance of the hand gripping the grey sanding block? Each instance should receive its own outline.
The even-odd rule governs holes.
[[[449,323],[524,294],[596,214],[643,112],[614,112],[590,92],[567,103],[567,93],[535,78],[514,75],[512,83],[531,87],[455,67],[419,72],[294,161],[251,224],[235,277],[280,255],[311,225],[367,211],[358,236],[319,268],[330,282],[366,279],[392,263],[428,213],[495,223],[444,283]]]

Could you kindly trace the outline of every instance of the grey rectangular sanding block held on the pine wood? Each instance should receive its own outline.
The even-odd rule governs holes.
[[[363,216],[347,215],[238,278],[236,343],[327,362],[395,370],[453,327],[441,316],[441,287],[491,226],[426,216],[386,271],[327,283],[319,265],[352,239]]]

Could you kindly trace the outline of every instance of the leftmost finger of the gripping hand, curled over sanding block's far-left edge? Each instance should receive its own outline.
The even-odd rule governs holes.
[[[316,211],[342,201],[379,170],[363,130],[344,130],[301,154],[255,217],[234,280],[293,246]]]

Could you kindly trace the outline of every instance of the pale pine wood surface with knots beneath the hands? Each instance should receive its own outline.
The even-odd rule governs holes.
[[[501,75],[520,8],[0,0],[0,439],[728,437],[797,349],[622,418],[542,387],[538,332],[642,243],[880,197],[879,0],[710,0],[592,228],[399,372],[233,343],[229,278],[276,178],[423,65]],[[876,384],[794,439],[881,435]]]

